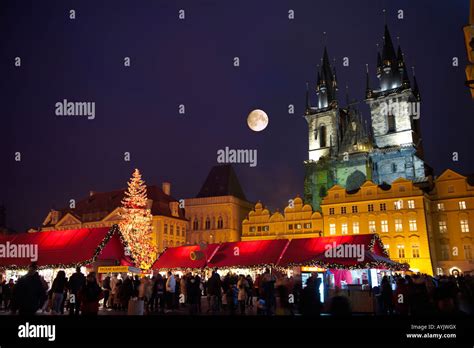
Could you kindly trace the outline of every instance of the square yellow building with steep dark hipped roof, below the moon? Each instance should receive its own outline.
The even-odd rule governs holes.
[[[242,221],[253,207],[230,164],[212,167],[196,197],[184,204],[189,244],[240,241]]]

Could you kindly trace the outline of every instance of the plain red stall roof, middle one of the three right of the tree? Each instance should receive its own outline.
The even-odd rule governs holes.
[[[246,268],[275,265],[287,244],[287,239],[223,243],[207,266]]]

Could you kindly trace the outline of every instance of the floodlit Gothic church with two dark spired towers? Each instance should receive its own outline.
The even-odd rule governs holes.
[[[305,161],[304,200],[320,209],[333,185],[349,191],[366,180],[390,184],[399,177],[428,182],[430,168],[423,161],[420,136],[420,93],[416,78],[408,77],[402,49],[394,49],[385,27],[382,54],[377,54],[378,87],[366,72],[366,99],[370,126],[357,103],[340,107],[335,68],[324,49],[318,69],[317,104],[312,106],[307,86],[308,160]]]

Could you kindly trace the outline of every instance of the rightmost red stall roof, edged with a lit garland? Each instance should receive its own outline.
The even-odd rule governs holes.
[[[278,266],[403,269],[388,258],[375,234],[293,239]]]

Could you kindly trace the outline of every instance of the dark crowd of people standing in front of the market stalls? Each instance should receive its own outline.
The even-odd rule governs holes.
[[[105,276],[101,284],[94,272],[87,276],[76,269],[69,278],[59,271],[51,286],[32,264],[15,283],[0,277],[0,310],[21,315],[38,311],[62,315],[97,315],[100,308],[120,314],[305,315],[322,312],[333,316],[352,314],[351,303],[341,289],[321,303],[322,279],[312,274],[302,284],[301,277],[288,277],[265,269],[255,277],[217,270],[206,277],[201,272],[167,272],[166,275]],[[371,290],[376,315],[473,315],[474,277],[466,275],[384,276]],[[131,309],[131,300],[141,307]],[[202,303],[207,301],[203,313]],[[255,310],[254,310],[255,307]],[[141,311],[140,311],[141,308]]]

